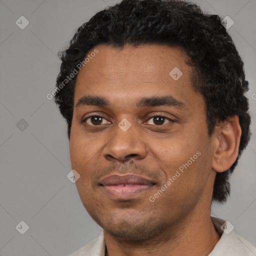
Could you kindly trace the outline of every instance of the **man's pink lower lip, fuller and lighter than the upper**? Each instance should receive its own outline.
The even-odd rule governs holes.
[[[153,185],[134,184],[134,185],[105,185],[101,186],[106,193],[117,199],[131,199],[135,195],[148,190]]]

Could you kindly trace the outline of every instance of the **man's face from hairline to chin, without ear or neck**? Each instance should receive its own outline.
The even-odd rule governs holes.
[[[112,235],[138,240],[192,212],[209,211],[213,145],[183,51],[160,45],[96,48],[77,75],[69,148],[90,216]],[[83,96],[91,98],[79,100]],[[112,174],[149,182],[107,186],[102,180]]]

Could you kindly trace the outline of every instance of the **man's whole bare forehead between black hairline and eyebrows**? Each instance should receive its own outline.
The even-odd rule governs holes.
[[[87,56],[95,48],[98,53],[92,54],[77,74],[74,105],[88,94],[124,103],[134,97],[166,94],[186,100],[193,92],[191,69],[180,48],[155,44],[117,48],[100,44]]]

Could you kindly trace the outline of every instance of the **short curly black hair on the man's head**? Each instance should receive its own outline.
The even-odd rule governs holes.
[[[238,116],[242,130],[238,156],[228,170],[216,174],[213,186],[212,201],[225,202],[230,193],[229,175],[249,141],[250,115],[243,62],[221,18],[184,0],[122,0],[97,12],[77,29],[69,47],[59,52],[62,63],[54,100],[66,119],[69,139],[77,75],[64,86],[63,80],[97,44],[180,47],[193,70],[194,90],[205,100],[209,136],[219,121]]]

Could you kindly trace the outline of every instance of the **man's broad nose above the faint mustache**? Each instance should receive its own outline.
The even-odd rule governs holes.
[[[133,126],[133,127],[132,127]],[[132,159],[143,159],[147,153],[142,137],[135,130],[135,125],[123,131],[115,127],[113,135],[103,148],[103,155],[107,160],[124,163]]]

